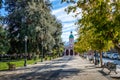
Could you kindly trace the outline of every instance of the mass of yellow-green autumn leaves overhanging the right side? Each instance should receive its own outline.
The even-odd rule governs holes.
[[[76,6],[82,9],[76,48],[86,50],[91,47],[102,51],[114,47],[112,40],[120,40],[120,0],[85,1],[79,0]]]

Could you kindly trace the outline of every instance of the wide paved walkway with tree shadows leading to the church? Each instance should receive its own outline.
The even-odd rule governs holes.
[[[103,72],[79,56],[64,56],[15,71],[0,71],[0,80],[120,80],[107,73],[107,69]]]

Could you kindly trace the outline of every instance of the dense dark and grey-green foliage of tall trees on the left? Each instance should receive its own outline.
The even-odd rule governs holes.
[[[8,53],[24,53],[28,36],[28,53],[44,55],[55,46],[61,47],[62,24],[51,14],[49,0],[5,0],[5,23],[8,25],[10,49]]]

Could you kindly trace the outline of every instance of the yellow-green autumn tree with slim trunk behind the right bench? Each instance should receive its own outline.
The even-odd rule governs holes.
[[[75,0],[63,1],[75,2]],[[78,20],[79,30],[84,30],[80,35],[85,32],[87,33],[88,30],[92,32],[90,40],[87,41],[91,48],[99,50],[101,53],[104,49],[108,50],[108,47],[112,46],[109,45],[111,42],[119,48],[120,28],[118,22],[120,20],[118,20],[118,18],[120,14],[120,1],[78,0],[76,5],[68,7],[67,11],[76,12],[77,9],[81,9],[80,13],[82,13],[82,18]],[[78,15],[78,13],[76,15]]]

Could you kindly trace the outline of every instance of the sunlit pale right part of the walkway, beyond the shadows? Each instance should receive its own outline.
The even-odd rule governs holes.
[[[82,59],[81,57],[75,57],[72,62],[67,63],[71,68],[79,69],[79,73],[74,76],[69,76],[69,78],[63,78],[61,80],[120,80],[111,78],[110,76],[115,76],[114,72],[111,72],[110,75],[107,73],[109,71],[104,70],[101,71],[101,68],[96,68],[96,66],[93,63],[90,63],[86,59]],[[63,73],[61,75],[64,76]],[[120,73],[117,74],[117,76],[120,76]]]

